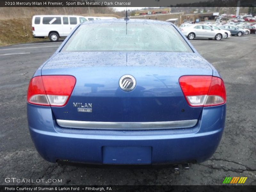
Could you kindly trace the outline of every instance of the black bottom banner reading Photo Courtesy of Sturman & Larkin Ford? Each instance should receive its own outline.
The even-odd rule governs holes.
[[[122,186],[122,185],[101,185],[101,186],[83,186],[83,185],[66,185],[66,186],[51,186],[51,185],[2,185],[0,186],[1,192],[49,192],[49,191],[55,191],[55,192],[87,192],[87,191],[109,191],[109,192],[148,192],[148,191],[180,191],[180,192],[255,192],[256,186],[241,186],[241,185],[204,185],[204,186],[196,186],[196,185],[184,185],[184,186],[166,186],[166,185],[148,185],[148,186],[134,186],[134,185],[128,185],[128,186]]]

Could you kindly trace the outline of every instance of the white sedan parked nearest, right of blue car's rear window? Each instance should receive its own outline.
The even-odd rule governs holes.
[[[222,34],[219,30],[214,30],[207,25],[191,25],[185,28],[181,28],[181,32],[188,37],[188,39],[192,40],[194,38],[209,38],[215,40],[221,40],[225,33]]]

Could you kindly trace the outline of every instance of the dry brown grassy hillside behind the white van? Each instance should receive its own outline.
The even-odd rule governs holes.
[[[98,10],[99,13],[95,13]],[[33,38],[32,17],[39,14],[65,14],[99,17],[116,17],[115,14],[104,14],[107,8],[91,8],[90,14],[83,7],[0,7],[0,46],[28,43],[33,41],[45,41],[46,39]],[[48,40],[48,39],[47,39]]]

